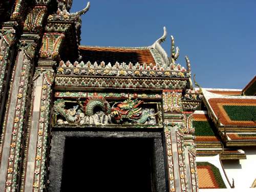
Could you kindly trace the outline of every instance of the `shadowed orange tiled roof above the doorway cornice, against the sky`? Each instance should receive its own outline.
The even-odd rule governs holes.
[[[104,61],[105,63],[116,62],[122,63],[152,63],[156,65],[155,60],[147,48],[114,48],[114,47],[79,47],[80,54],[82,55],[83,61],[91,61],[94,63],[100,63]]]

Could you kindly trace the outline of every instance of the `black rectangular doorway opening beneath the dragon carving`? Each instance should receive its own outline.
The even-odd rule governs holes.
[[[155,191],[154,139],[68,137],[61,191]]]

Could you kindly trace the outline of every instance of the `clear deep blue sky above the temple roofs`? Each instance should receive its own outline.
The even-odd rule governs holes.
[[[91,0],[82,16],[81,45],[150,46],[163,34],[169,54],[170,35],[188,55],[192,73],[205,88],[242,89],[256,74],[256,1]],[[71,12],[87,1],[73,0]]]

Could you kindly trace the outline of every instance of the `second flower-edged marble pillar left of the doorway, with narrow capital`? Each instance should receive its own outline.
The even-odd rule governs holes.
[[[29,38],[28,38],[29,37]],[[10,99],[3,122],[3,154],[1,157],[0,176],[6,178],[0,182],[0,191],[17,189],[22,155],[23,135],[26,127],[26,116],[30,93],[31,74],[33,74],[34,54],[37,35],[24,35],[20,50],[17,53],[13,77],[10,85]]]

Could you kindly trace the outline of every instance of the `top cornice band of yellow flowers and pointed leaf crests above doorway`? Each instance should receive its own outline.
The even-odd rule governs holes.
[[[60,61],[57,70],[61,75],[97,75],[97,76],[127,76],[127,77],[163,77],[163,78],[189,78],[190,73],[186,73],[185,69],[165,69],[159,65],[153,65],[153,63],[133,63],[126,64],[125,62],[116,62],[114,65],[110,62],[105,65],[102,61],[99,64],[97,62],[91,63],[88,61],[80,63],[75,61],[66,63]]]

